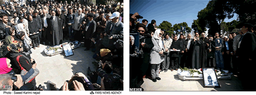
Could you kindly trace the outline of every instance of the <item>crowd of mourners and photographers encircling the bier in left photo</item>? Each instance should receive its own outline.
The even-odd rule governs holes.
[[[123,8],[88,1],[15,1],[0,7],[0,90],[42,90],[31,49],[79,41],[97,71],[76,73],[59,90],[123,90]],[[38,64],[38,63],[37,63]],[[51,90],[56,84],[48,83]],[[3,88],[11,85],[11,88]]]

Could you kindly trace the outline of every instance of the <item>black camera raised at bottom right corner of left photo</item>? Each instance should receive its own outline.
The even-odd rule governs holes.
[[[106,90],[122,90],[122,83],[120,82],[121,76],[118,74],[107,74],[101,68],[96,71],[98,75],[103,78],[104,77],[104,86]]]

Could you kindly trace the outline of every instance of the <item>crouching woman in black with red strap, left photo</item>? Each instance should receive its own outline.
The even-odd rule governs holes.
[[[25,75],[27,71],[32,68],[32,62],[34,60],[26,56],[26,54],[22,53],[23,51],[23,43],[20,41],[13,41],[10,45],[7,46],[8,51],[10,51],[10,59],[11,65],[14,73]],[[28,79],[28,82],[36,85],[35,77],[39,74],[38,69],[34,69],[33,75]]]

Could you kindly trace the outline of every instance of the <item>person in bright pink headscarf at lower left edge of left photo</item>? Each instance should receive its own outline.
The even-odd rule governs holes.
[[[14,73],[14,71],[11,68],[11,64],[10,64],[11,60],[8,58],[0,58],[0,75],[2,74],[10,74],[10,75],[16,75],[16,73]],[[36,68],[36,64],[34,64],[32,66],[32,69],[29,70],[28,73],[26,73],[26,75],[21,75],[23,82],[25,82],[25,84],[27,83],[26,81],[31,77],[31,75],[33,75],[34,73],[34,69]]]

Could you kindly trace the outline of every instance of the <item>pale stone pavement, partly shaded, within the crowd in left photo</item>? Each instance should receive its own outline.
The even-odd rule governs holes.
[[[67,42],[67,41],[66,41]],[[96,67],[92,64],[93,54],[91,50],[83,51],[85,47],[80,45],[79,48],[73,49],[74,55],[65,57],[65,53],[60,53],[53,56],[47,56],[44,49],[47,47],[40,44],[39,48],[31,49],[31,57],[36,61],[36,68],[39,69],[40,73],[35,78],[36,86],[42,85],[42,89],[50,90],[50,85],[47,81],[51,80],[56,84],[57,89],[59,89],[66,80],[70,80],[72,75],[76,72],[82,72],[87,75],[88,67],[92,71],[96,70]]]

